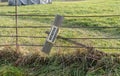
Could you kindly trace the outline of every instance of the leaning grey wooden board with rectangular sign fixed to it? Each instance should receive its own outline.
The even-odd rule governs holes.
[[[59,27],[61,26],[62,21],[63,21],[63,16],[56,15],[54,23],[51,27],[50,33],[49,33],[48,37],[46,38],[46,42],[42,48],[43,52],[45,52],[47,54],[50,53],[50,50],[53,47],[53,44],[54,44],[57,34],[59,32]]]

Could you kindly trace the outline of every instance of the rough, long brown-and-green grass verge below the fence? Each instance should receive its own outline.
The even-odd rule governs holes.
[[[83,49],[81,50],[83,51]],[[55,53],[40,52],[23,55],[13,47],[0,50],[0,76],[119,76],[120,54],[95,50]],[[84,50],[85,51],[85,50]]]

